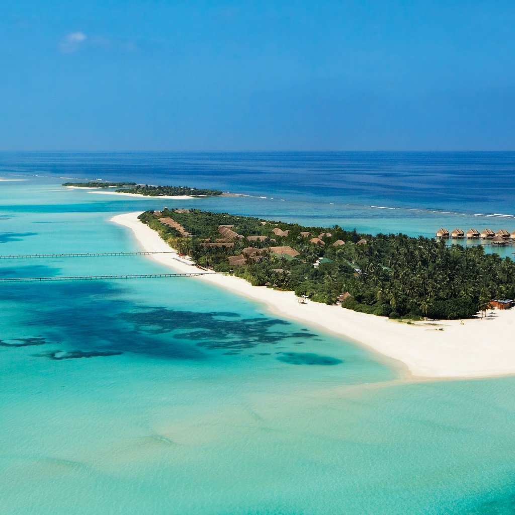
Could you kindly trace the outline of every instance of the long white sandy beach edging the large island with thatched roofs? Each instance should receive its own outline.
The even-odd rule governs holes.
[[[157,232],[138,220],[140,213],[111,218],[132,230],[145,251],[169,251]],[[181,272],[198,270],[178,260],[176,254],[150,258]],[[195,279],[192,279],[195,280]],[[247,281],[218,273],[198,278],[268,305],[270,313],[300,320],[313,327],[345,336],[373,351],[404,364],[417,377],[489,377],[515,374],[515,309],[489,311],[470,320],[415,322],[413,325],[383,317],[344,310],[316,302],[298,304],[293,292],[250,285]],[[440,329],[443,329],[440,330]]]

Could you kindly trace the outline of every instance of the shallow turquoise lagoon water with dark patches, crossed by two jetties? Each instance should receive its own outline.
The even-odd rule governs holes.
[[[15,173],[2,255],[135,251],[108,219],[162,203],[0,176]],[[268,200],[180,204],[265,216]],[[277,218],[306,216],[279,202]],[[388,221],[364,212],[352,222]],[[143,256],[0,262],[2,277],[157,271]],[[515,512],[511,377],[414,381],[195,279],[0,287],[2,514]]]

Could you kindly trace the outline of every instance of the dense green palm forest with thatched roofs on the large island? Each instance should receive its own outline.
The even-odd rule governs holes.
[[[515,295],[515,263],[482,246],[303,227],[197,209],[146,211],[140,220],[199,266],[255,286],[390,318],[470,318]]]

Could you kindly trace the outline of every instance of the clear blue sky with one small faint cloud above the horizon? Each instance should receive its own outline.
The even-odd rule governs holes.
[[[514,27],[502,0],[4,0],[0,149],[515,149]]]

